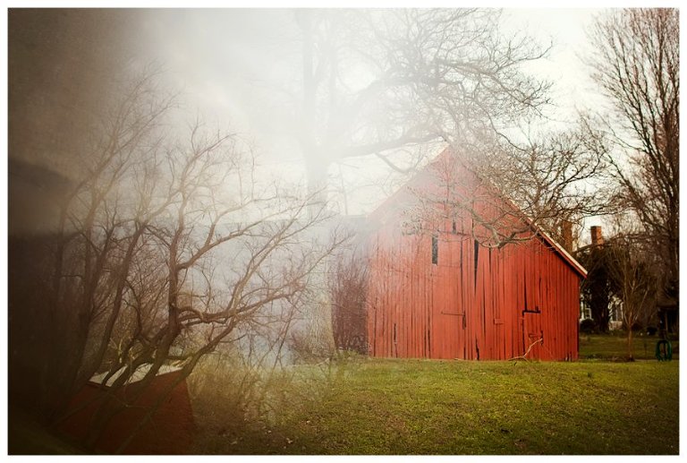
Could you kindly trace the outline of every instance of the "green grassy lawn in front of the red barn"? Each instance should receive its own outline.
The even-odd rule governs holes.
[[[284,386],[261,424],[200,422],[194,450],[677,454],[679,363],[618,362],[623,349],[590,337],[581,353],[592,359],[573,363],[349,360],[320,382]]]

